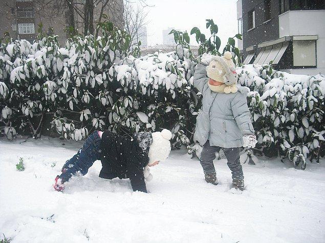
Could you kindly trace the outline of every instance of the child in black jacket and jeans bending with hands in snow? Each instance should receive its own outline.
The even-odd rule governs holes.
[[[171,132],[135,133],[126,138],[110,131],[95,131],[82,148],[69,159],[55,178],[54,189],[62,191],[64,183],[81,173],[85,175],[96,160],[101,160],[99,177],[104,179],[129,178],[133,191],[147,192],[144,179],[152,179],[148,166],[167,159],[170,152]]]

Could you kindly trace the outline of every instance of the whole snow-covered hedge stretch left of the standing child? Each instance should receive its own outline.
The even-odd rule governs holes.
[[[175,147],[190,143],[198,99],[188,51],[181,48],[183,59],[174,52],[135,58],[125,32],[108,22],[100,28],[102,37],[75,36],[62,47],[57,36],[1,42],[0,119],[7,137],[17,130],[38,138],[50,115],[52,129],[66,139],[80,140],[95,129],[167,127],[176,134]]]

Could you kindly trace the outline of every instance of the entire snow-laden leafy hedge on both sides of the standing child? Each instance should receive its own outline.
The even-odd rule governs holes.
[[[209,39],[195,28],[192,34],[204,52],[219,55],[215,26],[209,20]],[[94,130],[130,134],[168,128],[174,148],[185,144],[199,154],[192,138],[201,95],[192,83],[200,56],[192,55],[188,34],[172,32],[175,52],[139,58],[128,49],[125,32],[108,22],[99,27],[102,37],[75,36],[64,46],[57,36],[41,35],[33,44],[0,43],[0,123],[7,138],[16,132],[38,138],[49,126],[76,141]],[[237,55],[233,38],[225,51]],[[318,159],[325,132],[324,77],[294,76],[269,65],[245,65],[237,74],[251,90],[255,152],[289,157],[302,168],[307,158]],[[52,117],[50,124],[45,116]]]

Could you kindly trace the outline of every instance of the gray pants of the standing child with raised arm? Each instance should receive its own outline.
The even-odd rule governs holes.
[[[239,157],[239,148],[221,148],[218,146],[210,146],[209,140],[204,144],[200,163],[205,173],[214,173],[213,160],[215,159],[215,152],[223,149],[228,160],[227,165],[230,168],[232,179],[244,179],[243,168]]]

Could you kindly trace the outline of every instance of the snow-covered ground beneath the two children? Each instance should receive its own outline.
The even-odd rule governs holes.
[[[0,239],[14,242],[325,242],[325,161],[306,171],[290,163],[244,164],[246,190],[229,191],[231,175],[216,161],[220,184],[203,179],[198,160],[174,151],[151,169],[150,193],[128,180],[98,178],[100,162],[69,182],[52,184],[81,143],[0,139]],[[63,145],[62,143],[65,143]],[[24,159],[26,170],[15,164]]]

